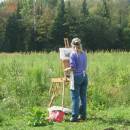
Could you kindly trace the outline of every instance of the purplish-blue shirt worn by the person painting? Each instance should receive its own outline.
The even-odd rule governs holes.
[[[74,69],[74,76],[83,74],[86,71],[87,56],[85,52],[77,53],[73,51],[70,54],[70,67]]]

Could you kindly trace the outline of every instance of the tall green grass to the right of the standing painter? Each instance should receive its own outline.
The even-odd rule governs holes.
[[[95,108],[129,105],[130,53],[100,52],[88,57],[90,104]]]

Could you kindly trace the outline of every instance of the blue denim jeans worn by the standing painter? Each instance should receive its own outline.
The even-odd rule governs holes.
[[[74,76],[74,90],[71,90],[72,99],[72,118],[78,118],[78,115],[82,117],[87,116],[87,75]]]

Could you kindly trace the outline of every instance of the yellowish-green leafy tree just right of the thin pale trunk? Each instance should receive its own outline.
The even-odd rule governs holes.
[[[49,50],[51,45],[51,25],[53,23],[53,13],[49,8],[44,10],[44,14],[38,19],[36,30],[36,49]]]

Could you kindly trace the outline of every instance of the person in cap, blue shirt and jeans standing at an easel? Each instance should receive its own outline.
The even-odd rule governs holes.
[[[73,51],[70,54],[70,66],[64,71],[73,72],[74,88],[70,86],[72,99],[72,117],[70,121],[77,122],[79,120],[85,120],[87,117],[87,56],[82,50],[81,40],[79,38],[73,38],[71,46]]]

